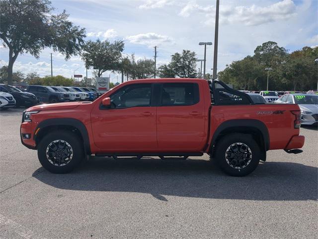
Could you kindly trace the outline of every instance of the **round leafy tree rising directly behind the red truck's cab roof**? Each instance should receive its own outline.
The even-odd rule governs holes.
[[[189,78],[196,76],[196,54],[189,50],[183,50],[182,54],[174,53],[169,64],[175,76]]]

